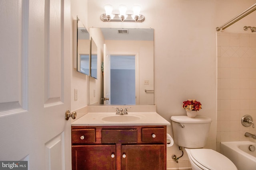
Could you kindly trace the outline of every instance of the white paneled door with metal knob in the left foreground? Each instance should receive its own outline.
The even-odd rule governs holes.
[[[71,169],[70,24],[70,0],[0,1],[0,161]]]

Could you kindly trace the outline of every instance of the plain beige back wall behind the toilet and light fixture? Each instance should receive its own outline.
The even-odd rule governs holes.
[[[157,112],[170,121],[172,115],[186,114],[182,109],[184,100],[188,98],[199,100],[203,108],[200,110],[200,115],[212,118],[206,147],[216,150],[215,28],[254,3],[254,0],[88,0],[86,26],[154,28],[154,104]],[[126,4],[128,11],[131,11],[133,4],[140,4],[145,21],[143,23],[102,22],[100,15],[104,13],[105,4],[112,4],[114,12],[118,12],[116,9],[119,4]],[[225,32],[244,33],[245,25],[256,26],[253,25],[255,16],[256,12],[253,12],[225,29]],[[168,133],[172,135],[171,127],[168,127]],[[167,149],[167,160],[172,161],[172,154],[181,155],[176,145]],[[182,161],[184,164],[187,163],[186,155],[179,159],[179,162]],[[184,164],[179,165],[186,166]],[[178,165],[175,162],[174,164],[168,162],[168,167],[176,166]]]

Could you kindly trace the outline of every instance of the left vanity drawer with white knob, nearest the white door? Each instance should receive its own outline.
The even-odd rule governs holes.
[[[72,144],[95,143],[95,129],[72,129]]]

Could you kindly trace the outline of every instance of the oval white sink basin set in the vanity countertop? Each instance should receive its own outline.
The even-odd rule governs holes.
[[[110,115],[103,117],[103,121],[110,121],[110,122],[128,122],[128,121],[137,121],[141,118],[135,115]]]

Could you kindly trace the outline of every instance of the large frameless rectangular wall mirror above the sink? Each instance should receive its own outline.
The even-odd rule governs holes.
[[[102,74],[90,79],[89,105],[154,105],[154,29],[90,28],[90,35]]]

